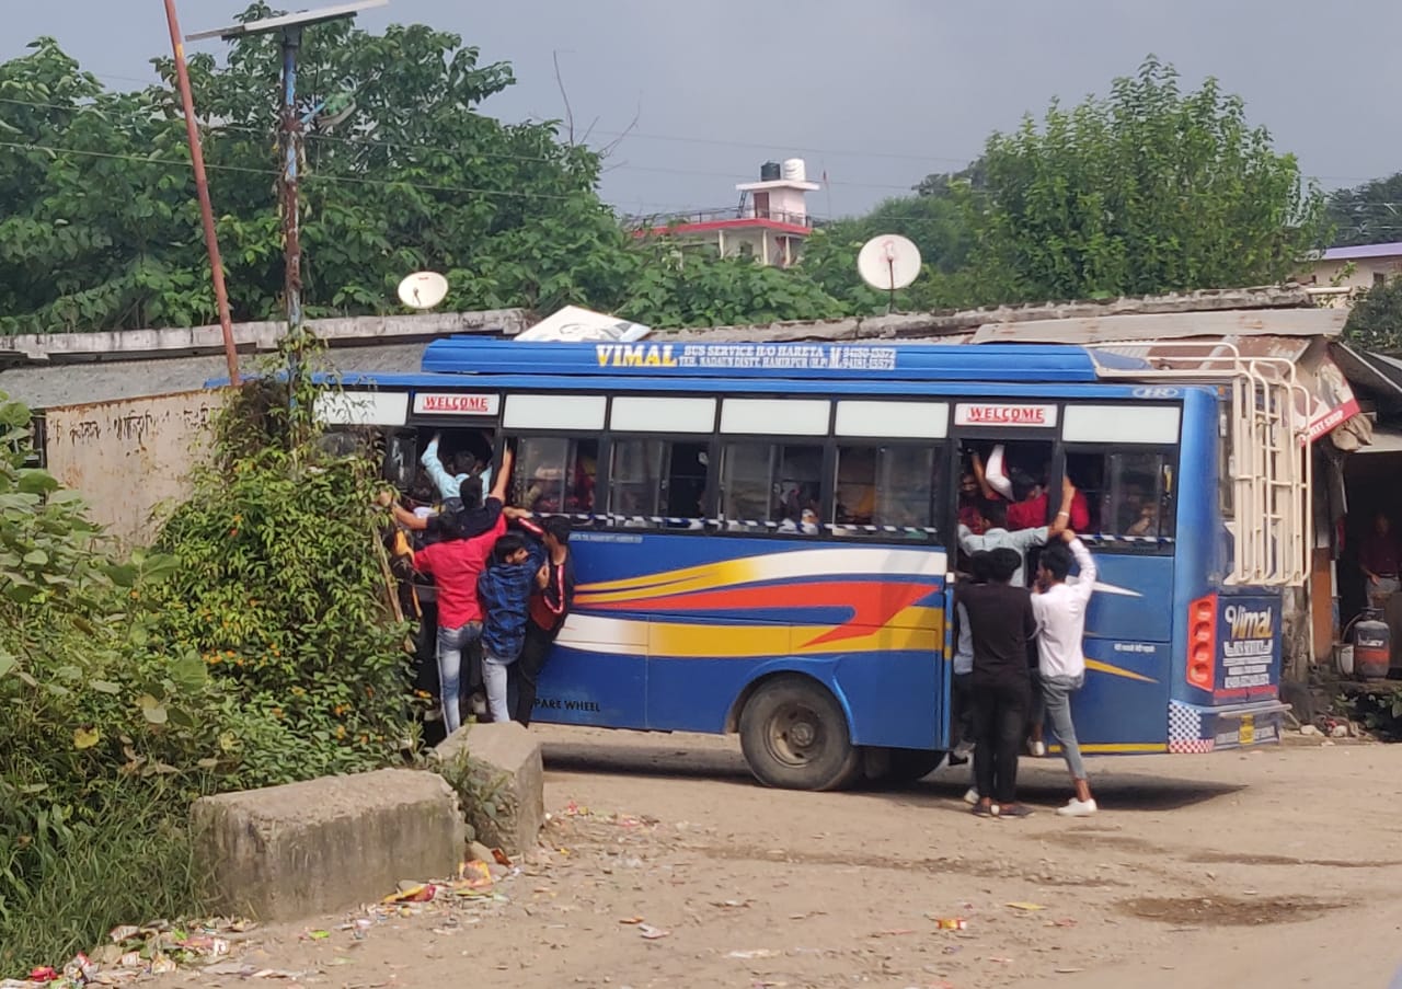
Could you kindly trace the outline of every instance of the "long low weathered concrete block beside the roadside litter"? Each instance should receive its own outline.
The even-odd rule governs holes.
[[[436,773],[381,769],[202,797],[191,808],[210,908],[299,920],[453,875],[465,828]]]

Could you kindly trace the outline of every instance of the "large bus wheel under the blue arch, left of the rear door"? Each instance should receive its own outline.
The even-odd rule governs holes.
[[[806,676],[754,692],[740,711],[740,751],[760,783],[784,790],[841,790],[862,767],[837,699]]]

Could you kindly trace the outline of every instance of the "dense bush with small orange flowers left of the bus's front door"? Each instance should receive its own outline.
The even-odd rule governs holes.
[[[366,457],[261,446],[202,469],[161,532],[177,567],[157,634],[191,642],[233,699],[241,787],[383,766],[405,745],[407,627],[386,609],[376,488]]]

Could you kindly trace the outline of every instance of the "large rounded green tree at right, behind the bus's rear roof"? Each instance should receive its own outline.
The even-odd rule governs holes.
[[[1154,58],[1109,98],[993,135],[981,170],[956,195],[984,302],[1260,285],[1323,234],[1322,194],[1242,101],[1213,79],[1185,94]]]

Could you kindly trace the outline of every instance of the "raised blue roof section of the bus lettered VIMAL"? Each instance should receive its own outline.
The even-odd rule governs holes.
[[[1091,383],[1096,361],[1143,361],[1053,344],[697,344],[655,337],[632,344],[516,342],[450,337],[423,351],[436,375],[610,377],[788,377],[820,380]]]

